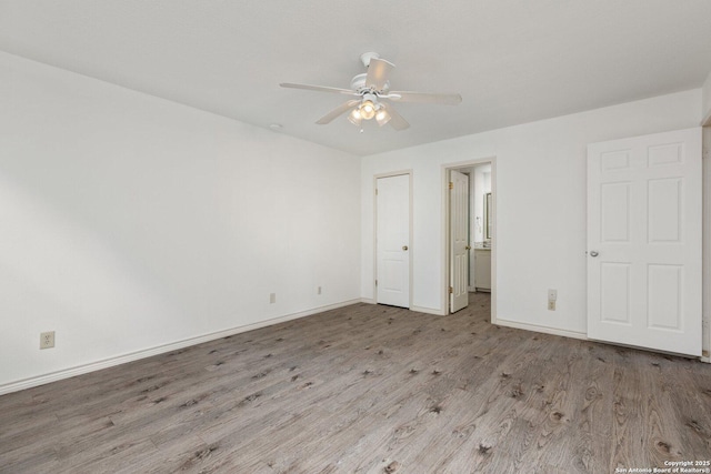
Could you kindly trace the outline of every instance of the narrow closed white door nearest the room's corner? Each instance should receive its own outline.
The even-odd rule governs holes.
[[[377,180],[377,302],[410,307],[410,175]]]

